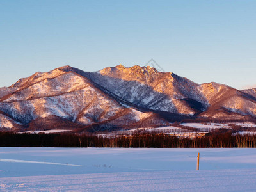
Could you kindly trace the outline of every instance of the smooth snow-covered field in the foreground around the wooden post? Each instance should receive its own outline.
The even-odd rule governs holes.
[[[255,188],[255,148],[0,148],[1,191]]]

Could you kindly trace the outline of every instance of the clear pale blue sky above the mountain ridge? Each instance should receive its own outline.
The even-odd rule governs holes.
[[[151,58],[196,83],[256,87],[256,1],[0,1],[0,87]]]

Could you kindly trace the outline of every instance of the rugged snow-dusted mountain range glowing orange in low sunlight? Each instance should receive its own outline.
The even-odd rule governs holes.
[[[3,130],[111,131],[198,118],[255,120],[256,91],[122,65],[99,72],[65,66],[0,88]]]

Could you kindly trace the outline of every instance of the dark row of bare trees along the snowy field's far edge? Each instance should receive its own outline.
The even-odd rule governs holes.
[[[178,138],[168,134],[96,136],[90,134],[17,134],[0,132],[1,147],[154,147],[212,148],[256,147],[255,135],[209,134],[201,138]]]

